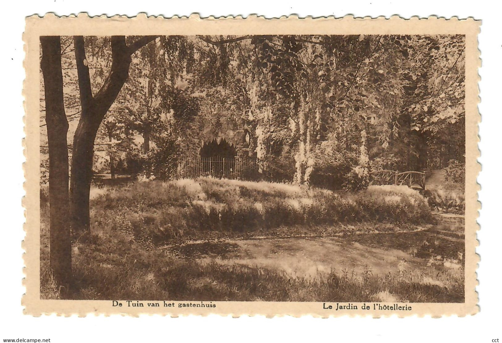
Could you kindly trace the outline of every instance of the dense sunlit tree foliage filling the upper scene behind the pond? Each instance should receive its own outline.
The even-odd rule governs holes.
[[[110,42],[85,42],[97,90]],[[72,38],[63,45],[71,120]],[[133,55],[96,146],[123,172],[138,169],[128,162],[152,172],[160,164],[143,168],[141,155],[166,135],[183,156],[225,139],[238,156],[258,158],[268,180],[364,188],[372,169],[462,163],[464,58],[463,36],[160,37]],[[176,159],[166,151],[166,162]]]

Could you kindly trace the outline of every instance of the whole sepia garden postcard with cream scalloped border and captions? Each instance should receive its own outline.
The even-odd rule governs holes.
[[[27,18],[25,313],[475,314],[479,25]]]

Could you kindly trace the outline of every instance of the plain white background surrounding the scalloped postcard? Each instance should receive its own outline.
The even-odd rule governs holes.
[[[2,166],[0,167],[0,342],[4,338],[51,338],[51,342],[85,341],[375,341],[375,342],[431,342],[470,341],[491,342],[502,339],[500,311],[501,270],[500,267],[500,65],[502,63],[502,24],[500,6],[496,1],[356,1],[328,0],[318,2],[304,0],[288,1],[148,1],[136,0],[106,2],[87,0],[72,2],[51,1],[8,1],[2,3],[3,20],[0,38],[0,87],[2,107],[0,107],[0,129],[2,130]],[[281,317],[268,319],[261,316],[231,317],[180,317],[142,316],[140,318],[121,316],[87,316],[78,318],[57,317],[56,315],[31,317],[22,314],[21,286],[23,260],[21,241],[24,237],[24,222],[21,197],[23,191],[22,162],[24,161],[21,139],[23,132],[22,106],[24,59],[22,32],[24,18],[32,14],[57,15],[88,12],[89,15],[126,14],[135,16],[138,12],[149,15],[189,15],[199,13],[202,17],[258,14],[267,18],[297,14],[304,16],[342,17],[352,14],[356,17],[400,15],[459,18],[473,17],[482,20],[479,35],[482,67],[479,110],[482,172],[478,182],[482,186],[479,199],[482,202],[478,232],[481,255],[478,269],[480,284],[479,305],[481,311],[474,316],[459,318],[329,318]],[[6,106],[7,105],[7,106]]]

